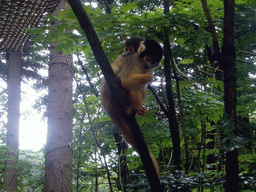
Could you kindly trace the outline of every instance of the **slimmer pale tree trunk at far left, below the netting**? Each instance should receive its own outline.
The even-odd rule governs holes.
[[[8,54],[7,54],[8,55]],[[8,59],[8,58],[7,58]],[[20,119],[20,84],[21,84],[21,53],[9,54],[8,76],[8,115],[6,145],[13,149],[7,153],[6,171],[4,173],[4,191],[17,191],[17,160],[19,157],[19,119]]]

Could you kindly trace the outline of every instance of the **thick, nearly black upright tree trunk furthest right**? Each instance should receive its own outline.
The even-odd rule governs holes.
[[[221,63],[224,69],[225,113],[236,122],[236,52],[235,52],[235,4],[234,0],[224,0],[224,39]],[[227,192],[239,191],[238,152],[236,149],[226,154]]]

